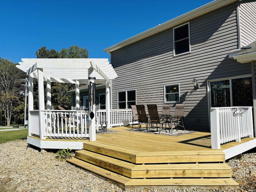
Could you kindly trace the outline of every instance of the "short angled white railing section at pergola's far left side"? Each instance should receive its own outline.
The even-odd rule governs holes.
[[[30,111],[30,120],[28,125],[28,135],[38,135],[40,136],[40,126],[39,126],[39,110]]]

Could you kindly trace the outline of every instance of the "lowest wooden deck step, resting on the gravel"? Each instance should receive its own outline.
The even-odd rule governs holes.
[[[116,174],[109,170],[105,170],[104,168],[100,168],[98,166],[92,165],[90,163],[84,162],[77,158],[68,159],[68,162],[84,168],[96,174],[97,176],[101,176],[106,178],[107,180],[114,182],[120,188],[124,190],[131,189],[141,189],[141,188],[238,188],[239,184],[232,180],[231,178],[207,178],[207,179],[198,179],[198,178],[173,178],[173,179],[130,179],[128,177],[122,176],[120,174]]]

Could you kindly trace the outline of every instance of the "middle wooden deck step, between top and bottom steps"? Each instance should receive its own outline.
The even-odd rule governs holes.
[[[94,152],[76,151],[76,158],[128,178],[229,178],[231,168],[223,163],[132,164]]]

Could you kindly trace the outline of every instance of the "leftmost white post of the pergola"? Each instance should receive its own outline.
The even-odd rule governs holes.
[[[31,114],[30,111],[34,110],[34,96],[33,96],[33,77],[28,75],[28,135],[31,135]]]

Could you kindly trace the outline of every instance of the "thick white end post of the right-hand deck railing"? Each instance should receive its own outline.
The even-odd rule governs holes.
[[[210,122],[212,149],[220,149],[220,110],[218,108],[211,108]]]

